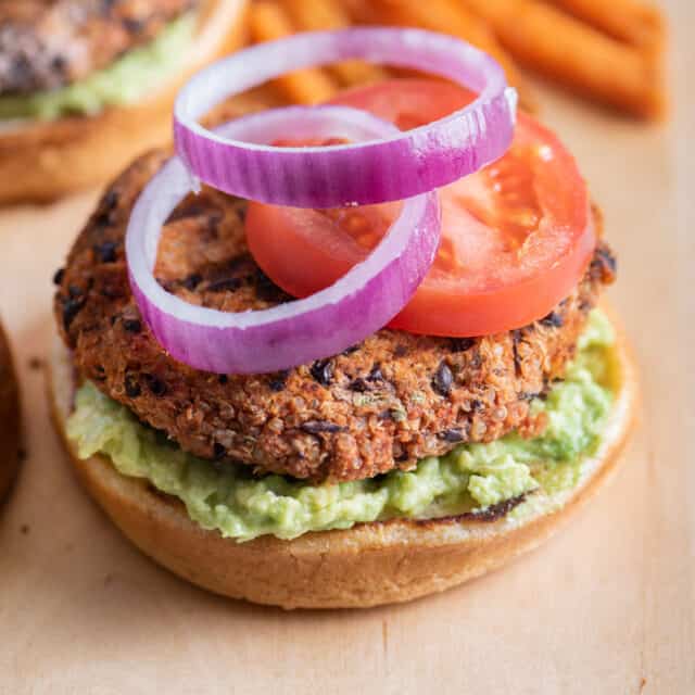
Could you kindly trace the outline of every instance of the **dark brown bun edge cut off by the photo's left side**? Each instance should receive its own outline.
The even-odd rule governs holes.
[[[0,327],[0,502],[20,466],[20,396],[12,355]]]

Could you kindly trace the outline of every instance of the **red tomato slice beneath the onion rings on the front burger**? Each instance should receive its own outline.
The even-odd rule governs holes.
[[[407,129],[471,98],[448,83],[395,79],[348,91],[332,103],[365,109]],[[596,244],[586,186],[573,157],[525,114],[509,151],[443,188],[440,200],[437,260],[393,328],[472,337],[526,326],[572,291]],[[251,203],[249,248],[277,285],[306,296],[364,260],[399,205],[307,211]]]

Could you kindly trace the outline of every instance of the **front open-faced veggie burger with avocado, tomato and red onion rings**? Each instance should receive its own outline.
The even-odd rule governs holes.
[[[355,31],[365,34],[348,31],[353,47]],[[403,35],[366,33],[384,45]],[[405,36],[412,50],[414,35]],[[453,50],[444,37],[415,36]],[[282,47],[289,64],[293,46]],[[243,55],[245,68],[261,56]],[[226,74],[233,65],[223,63]],[[203,78],[215,83],[212,72]],[[447,81],[393,79],[330,108],[283,110],[275,125],[231,122],[214,140],[239,147],[239,129],[265,129],[266,140],[285,132],[306,146],[327,136],[312,118],[359,114],[410,137],[477,103]],[[481,137],[507,127],[496,123],[496,135]],[[388,240],[406,243],[410,232],[399,225],[417,199],[268,203],[282,186],[268,193],[270,179],[253,177],[250,159],[244,180],[266,186],[244,197],[256,202],[224,190],[238,188],[222,181],[222,164],[187,194],[181,161],[203,174],[215,155],[197,160],[184,138],[181,161],[149,153],[111,185],[55,278],[51,393],[81,482],[139,548],[229,597],[366,607],[497,568],[596,492],[635,395],[622,333],[601,300],[616,260],[563,143],[521,113],[508,127],[514,138],[500,156],[426,194],[441,207],[431,257],[426,223],[408,226],[420,245],[405,253],[401,285],[366,283],[366,301],[355,277],[377,277],[370,264]],[[354,155],[344,143],[287,152],[333,150]],[[329,172],[331,190],[357,200],[354,170],[312,163],[311,176]],[[290,180],[294,200],[303,172]],[[377,176],[365,170],[369,191],[381,190]],[[160,210],[167,197],[170,210]],[[392,298],[410,281],[394,311]],[[265,316],[285,323],[253,324]],[[236,320],[245,327],[228,332]]]

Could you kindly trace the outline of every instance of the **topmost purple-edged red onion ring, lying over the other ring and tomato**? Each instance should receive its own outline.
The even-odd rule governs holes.
[[[465,109],[407,132],[341,147],[275,148],[212,132],[198,119],[227,98],[292,70],[359,58],[417,68],[479,93]],[[421,29],[359,27],[298,34],[198,73],[174,112],[178,154],[205,184],[294,207],[404,200],[472,174],[511,143],[516,92],[502,67],[459,39]]]

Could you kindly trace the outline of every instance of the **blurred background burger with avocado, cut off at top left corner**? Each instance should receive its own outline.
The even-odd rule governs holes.
[[[176,90],[241,0],[0,0],[0,203],[105,182],[169,139]]]

